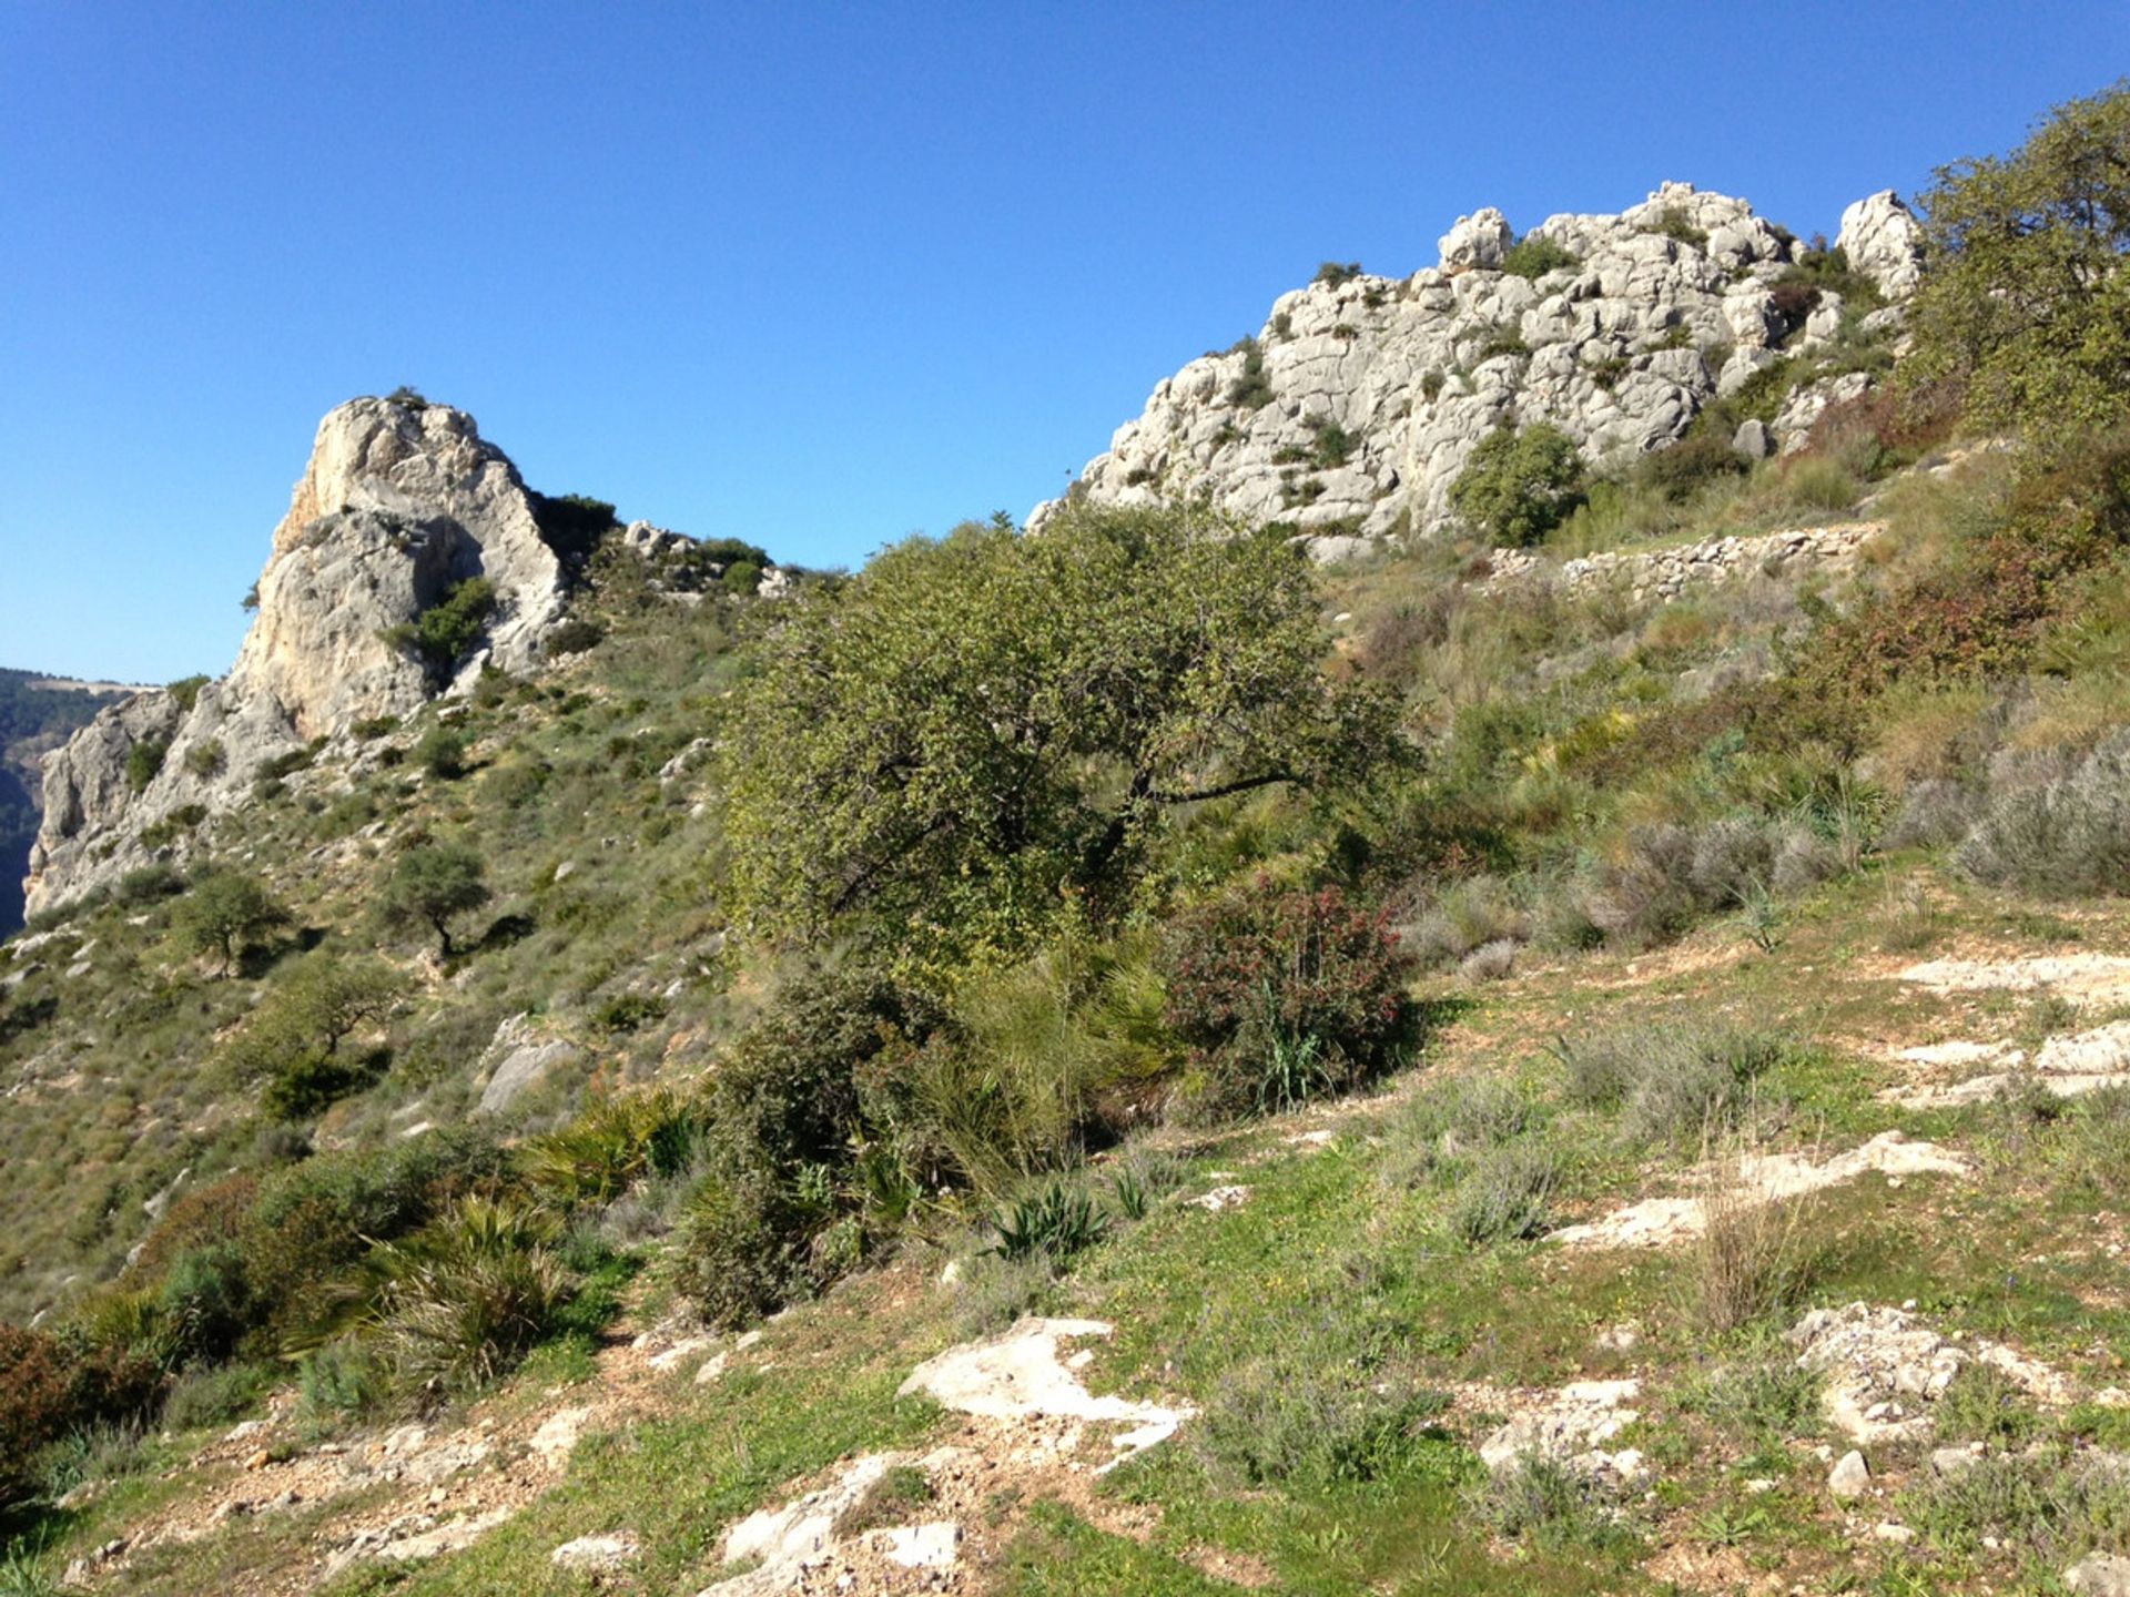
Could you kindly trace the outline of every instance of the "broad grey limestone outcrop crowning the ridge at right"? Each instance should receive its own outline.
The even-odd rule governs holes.
[[[1859,270],[1904,292],[1913,217],[1889,194],[1851,211]],[[1208,494],[1246,520],[1348,539],[1429,532],[1448,522],[1465,456],[1502,424],[1551,422],[1593,464],[1625,464],[1772,362],[1842,334],[1840,294],[1776,292],[1796,247],[1744,200],[1666,183],[1619,215],[1555,215],[1531,236],[1572,264],[1504,270],[1519,264],[1514,234],[1482,209],[1442,236],[1440,266],[1333,273],[1282,294],[1255,339],[1154,388],[1074,494]],[[1802,441],[1832,400],[1815,394],[1755,441]],[[1056,505],[1039,505],[1031,530]]]

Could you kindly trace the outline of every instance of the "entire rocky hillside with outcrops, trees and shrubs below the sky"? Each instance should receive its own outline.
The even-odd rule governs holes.
[[[51,762],[0,1595],[2130,1586],[2126,170],[1468,217],[835,577],[337,411]]]

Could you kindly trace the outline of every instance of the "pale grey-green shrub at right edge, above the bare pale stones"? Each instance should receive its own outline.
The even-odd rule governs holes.
[[[1953,858],[1979,882],[2028,892],[2130,892],[2130,735],[2066,777],[1994,794]]]

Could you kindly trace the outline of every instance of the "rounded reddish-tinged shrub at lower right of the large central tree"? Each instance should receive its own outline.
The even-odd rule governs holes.
[[[1387,918],[1338,888],[1267,879],[1178,918],[1167,933],[1167,1018],[1231,1107],[1280,1109],[1344,1090],[1416,1041],[1414,962]]]

